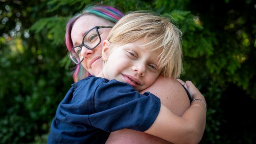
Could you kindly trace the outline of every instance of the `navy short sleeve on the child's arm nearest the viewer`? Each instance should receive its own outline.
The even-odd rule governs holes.
[[[92,126],[107,132],[124,128],[144,132],[153,124],[159,110],[160,99],[154,94],[139,94],[131,85],[111,80],[96,88],[95,113],[88,118]]]

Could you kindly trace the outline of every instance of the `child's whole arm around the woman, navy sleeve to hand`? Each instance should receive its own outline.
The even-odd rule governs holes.
[[[204,100],[192,83],[187,85],[194,98]],[[179,117],[160,106],[160,101],[153,94],[144,94],[151,96],[141,97],[130,85],[115,80],[102,83],[95,91],[96,113],[89,115],[90,123],[108,132],[123,128],[145,131],[173,143],[198,143],[201,140],[205,126],[201,126],[201,123],[205,122],[200,120],[206,114],[201,101],[194,101],[182,117]]]

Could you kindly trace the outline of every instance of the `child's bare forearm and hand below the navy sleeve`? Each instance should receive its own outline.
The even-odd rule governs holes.
[[[201,98],[205,101],[203,95],[192,82],[187,81],[186,85],[193,99]],[[199,143],[205,128],[205,118],[202,119],[202,117],[206,117],[206,110],[205,105],[200,100],[195,100],[181,117],[161,105],[155,122],[145,133],[173,143]]]

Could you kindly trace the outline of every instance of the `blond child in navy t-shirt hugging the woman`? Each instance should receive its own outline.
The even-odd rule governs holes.
[[[103,42],[102,72],[72,85],[57,108],[48,143],[105,143],[110,132],[124,128],[173,143],[198,143],[204,129],[198,121],[205,105],[193,85],[188,86],[189,92],[203,103],[194,101],[182,117],[152,93],[138,92],[160,74],[179,77],[180,35],[168,19],[150,13],[121,18]]]

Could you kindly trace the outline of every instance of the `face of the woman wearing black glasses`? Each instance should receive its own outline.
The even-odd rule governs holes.
[[[113,23],[94,15],[83,15],[78,18],[71,30],[73,46],[80,45],[85,33],[96,26],[113,26]],[[84,60],[81,64],[92,75],[98,75],[102,70],[102,42],[107,38],[110,30],[111,28],[98,29],[101,37],[101,43],[95,49],[89,50],[84,46],[82,47],[81,55],[84,57]]]

